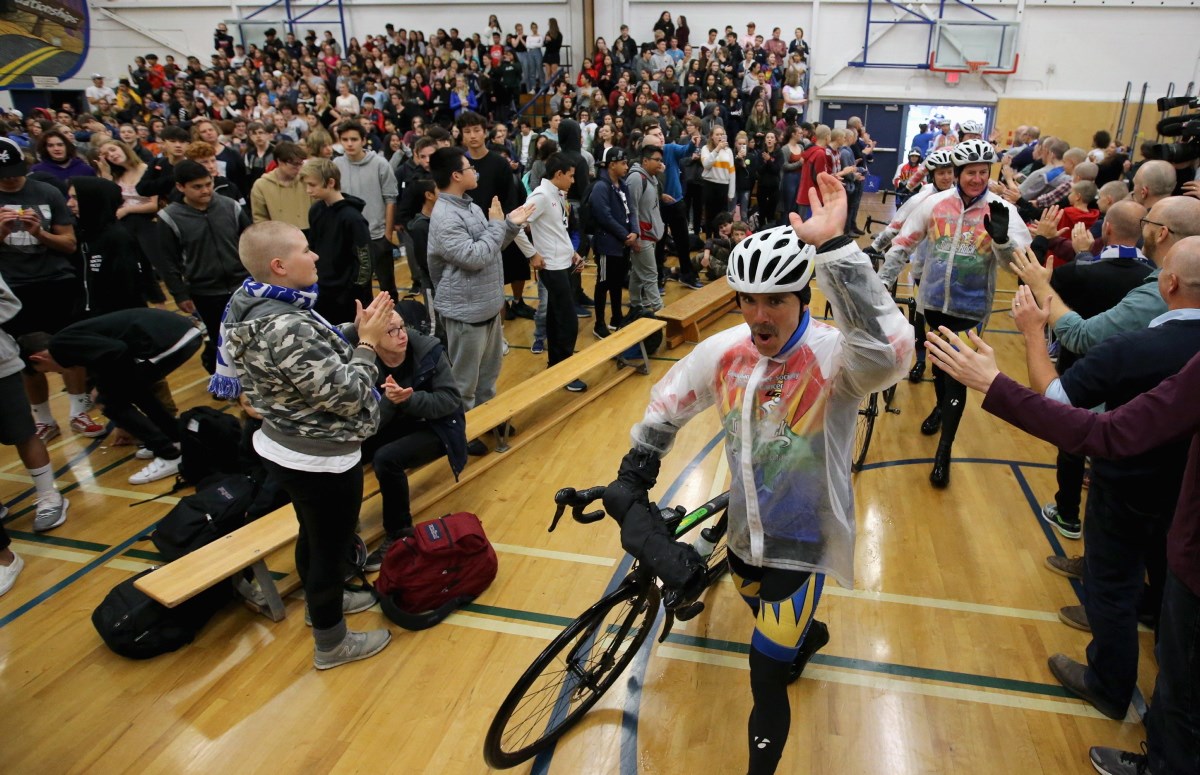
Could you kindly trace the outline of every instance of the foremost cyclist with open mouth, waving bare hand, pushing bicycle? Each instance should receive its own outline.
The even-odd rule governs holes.
[[[751,775],[775,771],[791,722],[787,684],[828,641],[826,625],[812,620],[824,575],[853,585],[850,463],[859,402],[895,383],[913,350],[912,326],[844,233],[845,188],[826,173],[818,184],[808,221],[792,215],[791,226],[733,248],[727,278],[745,323],[697,344],[654,385],[605,494],[625,549],[665,583],[694,585],[703,564],[672,540],[648,492],[676,432],[716,405],[732,471],[728,563],[756,617]],[[841,329],[809,314],[814,271]]]

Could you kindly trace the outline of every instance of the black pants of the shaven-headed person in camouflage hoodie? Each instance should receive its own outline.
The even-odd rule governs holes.
[[[312,626],[331,630],[342,620],[343,563],[362,505],[362,467],[322,474],[263,462],[292,498],[300,523],[296,572],[304,583]]]

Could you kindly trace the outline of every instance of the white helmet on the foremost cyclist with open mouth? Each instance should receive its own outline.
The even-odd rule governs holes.
[[[738,293],[803,290],[812,278],[817,248],[804,245],[790,226],[751,234],[730,253],[727,276]]]

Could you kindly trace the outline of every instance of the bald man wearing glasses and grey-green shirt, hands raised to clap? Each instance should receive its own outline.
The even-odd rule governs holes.
[[[1166,253],[1176,242],[1200,234],[1200,199],[1159,199],[1141,218],[1141,250],[1156,269],[1140,286],[1126,294],[1121,304],[1086,320],[1051,293],[1052,270],[1049,264],[1042,266],[1032,253],[1018,252],[1014,256],[1013,271],[1030,287],[1038,304],[1045,304],[1046,298],[1050,298],[1049,323],[1062,347],[1075,353],[1087,353],[1110,336],[1146,328],[1151,320],[1166,312],[1158,293],[1158,274]]]

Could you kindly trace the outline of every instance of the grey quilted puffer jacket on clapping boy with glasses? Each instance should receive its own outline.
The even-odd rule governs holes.
[[[460,323],[485,323],[504,308],[500,251],[517,234],[508,218],[488,221],[468,197],[438,193],[430,216],[430,277],[438,314]]]

